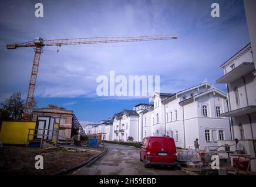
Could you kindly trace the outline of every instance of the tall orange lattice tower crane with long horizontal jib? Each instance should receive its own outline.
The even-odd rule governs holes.
[[[18,47],[33,47],[35,55],[33,58],[33,65],[31,77],[29,80],[28,95],[26,97],[25,109],[23,111],[23,120],[31,120],[34,92],[36,86],[36,77],[38,75],[38,67],[40,56],[43,47],[46,46],[64,46],[64,45],[78,45],[78,44],[99,44],[99,43],[118,43],[118,42],[132,42],[132,41],[152,41],[152,40],[172,40],[177,39],[174,34],[156,35],[156,36],[129,36],[129,37],[82,37],[73,39],[48,39],[43,40],[41,37],[36,37],[33,41],[25,43],[9,43],[6,44],[7,49],[16,49]]]

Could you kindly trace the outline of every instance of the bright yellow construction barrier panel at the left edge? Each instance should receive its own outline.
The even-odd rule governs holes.
[[[0,141],[2,144],[25,145],[28,139],[28,129],[35,129],[36,122],[2,122]],[[29,136],[32,140],[33,136]]]

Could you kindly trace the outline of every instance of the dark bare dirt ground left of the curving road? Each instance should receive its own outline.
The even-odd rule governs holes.
[[[89,149],[85,152],[69,152],[63,148],[40,150],[4,146],[0,149],[0,175],[52,175],[63,168],[78,165],[101,151]],[[35,156],[43,156],[43,169],[35,168]]]

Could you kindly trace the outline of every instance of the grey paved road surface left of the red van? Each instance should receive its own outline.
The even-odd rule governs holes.
[[[187,175],[170,168],[144,168],[139,160],[140,150],[129,146],[106,144],[107,153],[89,168],[83,167],[74,175]]]

